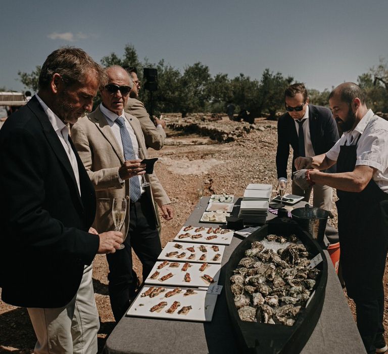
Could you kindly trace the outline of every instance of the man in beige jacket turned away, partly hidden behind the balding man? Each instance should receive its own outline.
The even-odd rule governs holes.
[[[129,69],[129,74],[132,78],[133,86],[124,110],[126,113],[134,115],[140,121],[147,147],[160,150],[163,148],[164,140],[166,139],[166,132],[164,131],[166,122],[155,117],[155,126],[144,104],[137,100],[139,97],[140,80],[137,77],[136,70],[134,68]]]

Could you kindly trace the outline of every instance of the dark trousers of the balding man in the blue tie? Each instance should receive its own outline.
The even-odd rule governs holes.
[[[150,274],[162,246],[156,228],[155,213],[146,194],[129,203],[129,229],[125,248],[107,254],[109,264],[108,288],[113,316],[118,322],[135,297],[137,276],[132,269],[132,248],[143,266],[143,281]]]

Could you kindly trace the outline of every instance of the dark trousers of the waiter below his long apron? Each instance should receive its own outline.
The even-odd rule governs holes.
[[[374,353],[376,350],[375,341],[384,333],[382,324],[384,316],[384,290],[377,298],[359,299],[355,298],[357,328],[364,343],[367,353]]]

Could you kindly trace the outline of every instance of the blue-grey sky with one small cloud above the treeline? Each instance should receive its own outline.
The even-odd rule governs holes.
[[[53,50],[71,45],[98,62],[132,44],[140,59],[212,75],[265,68],[331,89],[388,59],[388,0],[0,0],[0,87],[24,90]]]

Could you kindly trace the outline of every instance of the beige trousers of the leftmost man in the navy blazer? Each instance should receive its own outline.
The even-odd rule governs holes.
[[[64,307],[28,307],[37,342],[34,353],[79,353],[98,351],[99,313],[95,305],[92,264],[85,266],[74,298]]]

